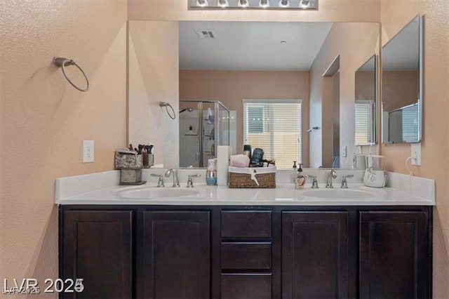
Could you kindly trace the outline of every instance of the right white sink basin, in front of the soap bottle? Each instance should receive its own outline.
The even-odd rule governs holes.
[[[302,195],[317,199],[373,199],[377,194],[368,190],[333,188],[307,190]]]

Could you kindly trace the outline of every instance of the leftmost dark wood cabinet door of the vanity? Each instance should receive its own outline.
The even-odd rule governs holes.
[[[131,211],[65,211],[62,279],[83,279],[63,298],[132,298]],[[73,289],[73,288],[72,288]]]

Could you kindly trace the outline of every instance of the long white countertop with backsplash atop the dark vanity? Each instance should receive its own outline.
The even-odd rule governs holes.
[[[401,181],[401,178],[398,178]],[[407,181],[408,178],[404,178]],[[424,180],[417,188],[429,188],[432,180]],[[194,182],[193,188],[156,187],[152,181],[140,186],[118,185],[117,171],[78,175],[61,178],[55,183],[56,204],[87,205],[251,205],[251,206],[434,206],[434,190],[413,192],[410,185],[400,182],[400,188],[372,188],[349,181],[347,190],[340,188],[338,181],[333,189],[326,189],[319,181],[319,189],[306,184],[304,189],[295,190],[293,184],[279,183],[276,188],[233,189],[227,186],[208,186]],[[426,185],[427,183],[427,185]],[[408,192],[411,191],[411,192]],[[162,194],[162,195],[161,195]],[[423,195],[429,194],[428,197]]]

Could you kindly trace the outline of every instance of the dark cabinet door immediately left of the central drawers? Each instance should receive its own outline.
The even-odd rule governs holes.
[[[143,298],[210,298],[209,212],[143,213]]]

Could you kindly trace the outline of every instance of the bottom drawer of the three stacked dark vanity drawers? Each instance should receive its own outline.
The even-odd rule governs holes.
[[[222,273],[220,290],[222,299],[271,299],[272,274]]]

